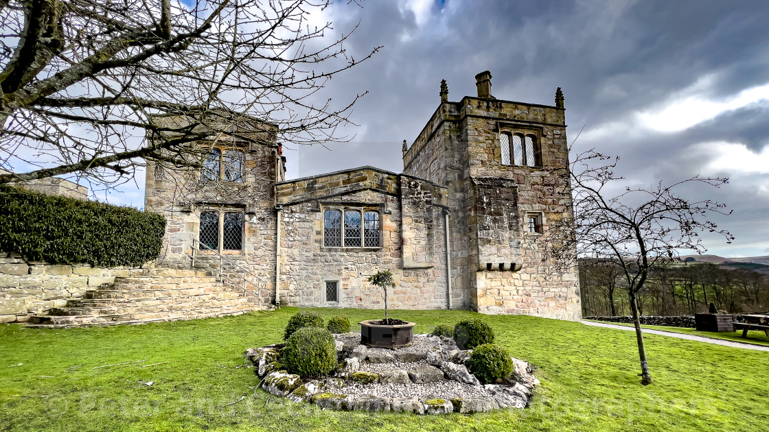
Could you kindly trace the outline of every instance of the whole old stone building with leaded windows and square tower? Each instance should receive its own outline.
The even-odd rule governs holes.
[[[381,308],[366,278],[387,269],[390,307],[580,319],[576,269],[555,273],[541,252],[548,222],[571,212],[568,185],[554,187],[568,166],[561,90],[534,105],[494,98],[488,71],[476,80],[458,102],[441,83],[400,174],[287,181],[275,127],[252,118],[197,143],[202,171],[148,166],[145,208],[168,218],[161,263],[189,266],[194,250],[235,262],[263,281],[259,304]]]

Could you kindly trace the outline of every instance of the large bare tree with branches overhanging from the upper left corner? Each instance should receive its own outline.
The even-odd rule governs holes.
[[[357,95],[318,91],[370,58],[315,25],[324,0],[0,0],[0,183],[60,174],[107,186],[249,115],[284,141],[338,137]],[[312,16],[311,16],[312,15]],[[353,29],[354,30],[354,29]],[[180,116],[178,127],[154,120]],[[152,139],[145,140],[146,136]]]

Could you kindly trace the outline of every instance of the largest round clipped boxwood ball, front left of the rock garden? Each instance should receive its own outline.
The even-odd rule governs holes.
[[[337,366],[336,342],[321,327],[302,327],[291,334],[283,349],[286,369],[300,377],[328,374]]]

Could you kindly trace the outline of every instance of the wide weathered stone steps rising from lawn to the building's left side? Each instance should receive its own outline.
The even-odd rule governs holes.
[[[253,311],[258,299],[216,281],[197,269],[148,268],[89,290],[45,315],[30,317],[29,327],[142,324],[153,321],[220,317]]]

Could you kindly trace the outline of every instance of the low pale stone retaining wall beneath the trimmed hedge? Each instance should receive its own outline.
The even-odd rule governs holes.
[[[131,271],[135,268],[26,261],[19,254],[0,252],[0,323],[26,322],[32,314],[62,307],[68,298],[82,297]]]

